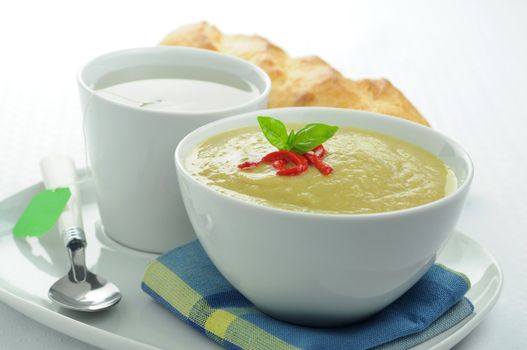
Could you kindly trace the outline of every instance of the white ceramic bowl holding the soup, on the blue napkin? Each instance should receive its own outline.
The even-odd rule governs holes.
[[[410,209],[322,214],[234,198],[187,171],[185,159],[196,146],[224,131],[257,125],[259,115],[398,137],[442,159],[455,173],[458,187]],[[414,285],[454,229],[473,176],[468,154],[433,129],[370,112],[320,107],[261,110],[207,124],[179,143],[175,160],[190,221],[218,270],[265,313],[310,326],[361,320]]]

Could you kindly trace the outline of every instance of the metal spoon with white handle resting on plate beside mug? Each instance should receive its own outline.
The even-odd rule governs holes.
[[[86,267],[86,236],[82,230],[82,216],[78,206],[79,192],[73,161],[66,156],[44,158],[40,167],[46,188],[68,186],[71,198],[62,212],[58,227],[64,238],[71,263],[69,273],[49,289],[49,298],[58,305],[77,311],[106,310],[121,300],[121,293],[113,283],[90,272]]]

